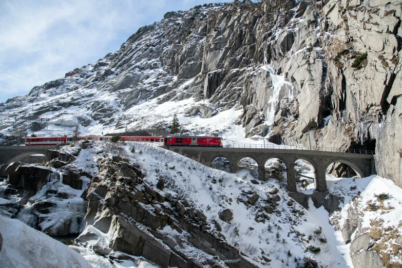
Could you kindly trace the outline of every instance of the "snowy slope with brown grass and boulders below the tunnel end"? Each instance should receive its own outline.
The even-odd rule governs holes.
[[[329,189],[344,199],[340,212],[331,217],[338,241],[347,242],[344,256],[355,268],[402,265],[402,190],[378,176],[329,181]],[[349,242],[350,241],[350,242]],[[373,260],[367,263],[365,259]],[[382,267],[380,263],[378,267]]]

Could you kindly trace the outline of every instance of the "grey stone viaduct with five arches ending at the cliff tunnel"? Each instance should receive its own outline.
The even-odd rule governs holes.
[[[298,149],[257,149],[257,148],[217,148],[217,147],[170,147],[164,148],[175,151],[185,157],[191,158],[203,165],[211,166],[217,157],[225,157],[231,168],[231,173],[236,173],[238,162],[245,157],[254,159],[258,164],[259,179],[264,181],[264,165],[272,158],[280,159],[286,165],[286,177],[288,178],[289,192],[297,192],[296,176],[293,172],[296,160],[307,160],[314,167],[314,184],[318,192],[326,192],[326,171],[334,162],[340,162],[353,168],[361,178],[370,176],[374,166],[373,155],[350,154],[346,152],[298,150]]]

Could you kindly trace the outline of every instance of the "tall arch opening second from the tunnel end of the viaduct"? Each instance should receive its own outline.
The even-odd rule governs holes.
[[[308,157],[298,157],[294,161],[294,167],[292,170],[295,174],[297,188],[299,189],[314,189],[318,188],[317,185],[317,165],[315,161]]]

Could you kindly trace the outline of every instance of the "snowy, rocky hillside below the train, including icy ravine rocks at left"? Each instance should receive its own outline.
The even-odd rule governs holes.
[[[307,239],[314,224],[303,226],[308,211],[282,182],[237,178],[148,144],[111,146],[85,141],[48,150],[46,166],[5,164],[0,214],[50,236],[79,235],[111,261],[142,256],[161,267],[295,266],[318,246]]]

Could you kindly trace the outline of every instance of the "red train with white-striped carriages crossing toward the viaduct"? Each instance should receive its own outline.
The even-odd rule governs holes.
[[[109,141],[112,136],[81,136],[78,140]],[[167,146],[205,146],[222,147],[222,137],[208,136],[160,136],[160,137],[140,137],[122,136],[122,142],[149,142]],[[59,143],[70,144],[74,142],[73,137],[40,137],[26,138],[25,145],[56,145]]]

